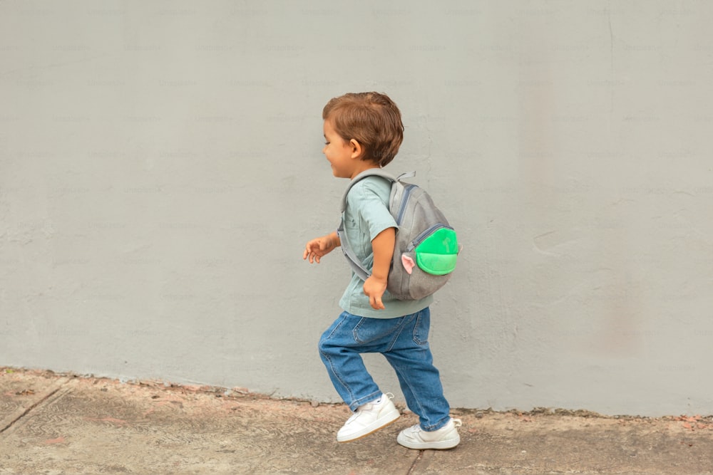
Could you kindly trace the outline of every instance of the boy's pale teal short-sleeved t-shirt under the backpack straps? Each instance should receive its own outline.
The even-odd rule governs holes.
[[[344,232],[354,248],[354,254],[365,268],[374,266],[374,251],[371,241],[381,231],[395,228],[394,216],[389,213],[391,182],[381,177],[366,177],[354,184],[347,195],[347,209],[344,210]],[[369,297],[364,294],[364,281],[352,272],[347,290],[344,291],[339,306],[352,315],[370,318],[397,318],[416,313],[428,307],[433,296],[419,301],[401,301],[389,294],[381,297],[384,310],[375,310],[369,305]]]

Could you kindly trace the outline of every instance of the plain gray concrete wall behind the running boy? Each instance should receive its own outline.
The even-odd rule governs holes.
[[[432,308],[454,406],[710,414],[712,22],[693,0],[3,1],[0,365],[336,400],[316,344],[349,271],[301,259],[346,184],[320,114],[379,90],[406,125],[389,169],[465,246]]]

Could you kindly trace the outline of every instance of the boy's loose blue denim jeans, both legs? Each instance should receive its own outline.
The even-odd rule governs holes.
[[[450,407],[433,365],[430,326],[428,307],[399,318],[339,315],[319,339],[319,355],[349,409],[354,411],[381,395],[360,355],[381,353],[396,371],[406,404],[419,416],[421,428],[434,431],[446,425]]]

